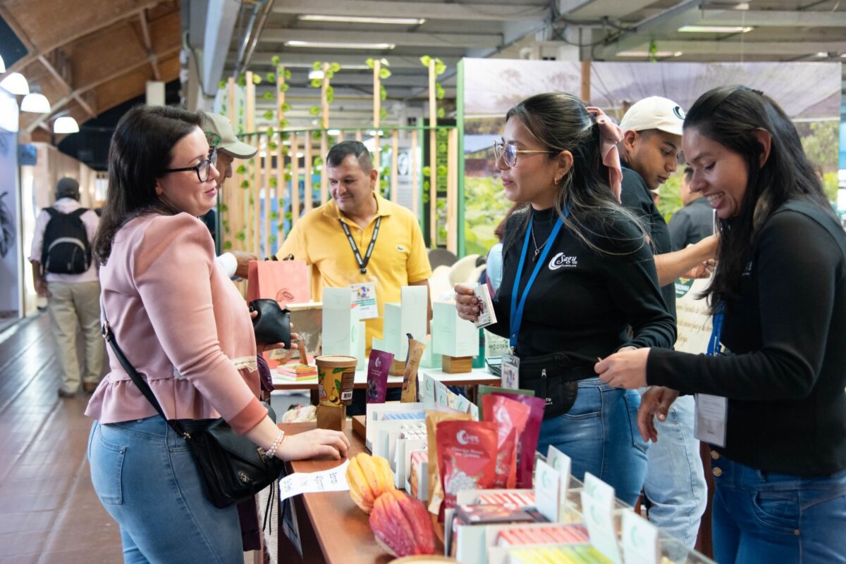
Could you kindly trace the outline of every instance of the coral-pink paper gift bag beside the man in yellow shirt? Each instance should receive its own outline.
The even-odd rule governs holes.
[[[303,260],[250,261],[247,301],[268,298],[285,307],[311,301],[309,267]]]

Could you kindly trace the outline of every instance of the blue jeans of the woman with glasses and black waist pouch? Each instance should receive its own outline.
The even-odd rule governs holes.
[[[640,496],[646,475],[647,443],[637,430],[640,394],[611,388],[599,378],[580,380],[570,410],[544,420],[537,449],[546,456],[552,445],[573,458],[571,473],[584,480],[590,472],[613,485],[629,505]]]

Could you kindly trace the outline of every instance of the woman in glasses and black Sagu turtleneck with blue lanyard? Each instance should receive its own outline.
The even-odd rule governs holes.
[[[567,94],[532,96],[505,119],[495,144],[505,196],[530,205],[508,219],[488,330],[511,340],[519,387],[547,399],[538,450],[557,447],[577,478],[591,472],[634,504],[646,471],[640,396],[599,382],[593,364],[623,347],[669,347],[675,323],[643,230],[619,205],[622,133]],[[475,321],[473,290],[455,291],[459,316]]]

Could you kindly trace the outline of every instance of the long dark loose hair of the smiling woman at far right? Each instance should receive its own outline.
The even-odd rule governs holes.
[[[712,89],[687,112],[684,129],[692,128],[743,158],[749,171],[739,213],[720,221],[717,271],[704,292],[711,310],[716,310],[720,302],[738,295],[752,242],[783,203],[804,198],[829,214],[833,212],[794,123],[769,96],[745,86]],[[753,135],[761,129],[771,137],[770,155],[763,165],[764,147]]]

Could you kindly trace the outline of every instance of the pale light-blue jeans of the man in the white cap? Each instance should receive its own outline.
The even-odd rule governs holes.
[[[658,441],[649,447],[649,464],[643,491],[652,504],[649,520],[680,540],[688,548],[696,544],[699,523],[708,503],[705,471],[699,453],[699,440],[693,434],[695,400],[682,396],[670,407],[667,420],[656,421]],[[673,561],[687,554],[683,545],[674,545]]]

